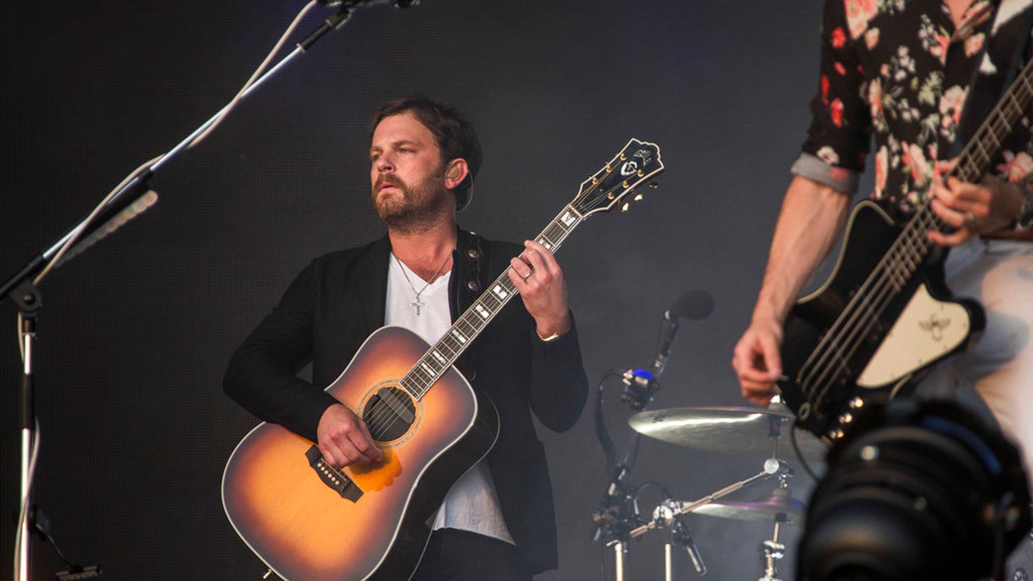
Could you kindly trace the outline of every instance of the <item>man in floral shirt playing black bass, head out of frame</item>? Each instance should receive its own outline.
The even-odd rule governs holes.
[[[849,409],[860,404],[856,394],[878,390],[896,394],[924,372],[919,390],[974,387],[1004,432],[1018,440],[1029,470],[1033,468],[1033,238],[1028,228],[1033,223],[1033,197],[1028,180],[1033,146],[1029,123],[1021,119],[1033,98],[1029,67],[1012,86],[1018,93],[1011,94],[1018,98],[1005,103],[1003,114],[992,112],[988,120],[995,114],[1015,115],[1007,122],[994,118],[1000,122],[990,129],[984,125],[962,155],[951,152],[956,142],[966,143],[958,134],[959,122],[966,100],[970,104],[977,100],[970,86],[973,73],[980,63],[993,68],[985,67],[991,60],[990,53],[983,60],[984,45],[992,35],[1008,30],[1016,42],[1029,36],[1029,2],[1019,2],[1025,5],[1016,8],[1015,2],[1005,0],[995,13],[996,4],[826,0],[820,86],[811,104],[811,128],[792,169],[794,178],[775,227],[763,283],[750,326],[734,348],[732,366],[744,397],[765,405],[773,388],[783,396],[795,390],[796,404],[790,406],[797,419],[833,438],[842,435],[836,422],[849,422]],[[992,27],[995,23],[1001,26]],[[1007,72],[1007,60],[993,65]],[[983,68],[979,71],[984,73]],[[990,105],[998,96],[992,96]],[[984,108],[972,112],[982,115],[991,109],[971,106]],[[888,274],[879,275],[882,278],[872,274],[863,283],[840,288],[826,285],[816,292],[821,295],[815,300],[805,298],[794,306],[797,294],[844,232],[873,132],[871,197],[876,204],[862,206],[869,206],[865,210],[874,219],[860,219],[860,212],[855,212],[837,269],[850,270],[855,262],[868,259],[873,248],[881,255],[876,248],[881,245],[881,250],[889,251],[881,262],[872,261],[870,272],[881,269]],[[979,142],[989,141],[988,136],[994,143]],[[950,162],[937,161],[948,158]],[[876,207],[884,213],[872,211]],[[875,236],[864,239],[866,231],[884,228],[889,222],[896,223],[888,227],[888,242]],[[891,237],[901,232],[902,222],[907,222],[907,236],[895,242]],[[858,238],[860,244],[853,244],[852,250],[859,252],[851,253],[851,243]],[[938,263],[935,257],[926,259],[925,266],[911,264],[935,256],[944,247],[950,251],[939,267],[929,266]],[[981,309],[974,303],[939,302],[911,282],[911,278],[932,280],[928,284],[932,293],[942,286],[933,280],[937,274],[940,282],[945,276],[954,295],[975,299]],[[913,296],[884,299],[902,290]],[[914,306],[917,303],[926,306]],[[867,315],[860,314],[865,308],[856,308],[850,317],[835,319],[815,333],[819,348],[790,364],[793,312],[814,314],[835,307],[845,313],[871,304],[877,304],[880,314],[860,325],[857,322]],[[902,313],[896,320],[903,323],[879,318],[883,311]],[[982,311],[984,334],[965,350],[967,336],[978,335]],[[890,326],[893,331],[881,329]],[[866,344],[872,335],[890,346]],[[926,346],[948,341],[953,343]],[[862,351],[871,358],[851,359]],[[947,357],[956,353],[960,355]],[[914,361],[899,364],[912,355]],[[849,373],[841,372],[847,368]],[[862,389],[847,397],[839,395],[855,386]],[[839,408],[829,405],[837,399],[843,403]]]

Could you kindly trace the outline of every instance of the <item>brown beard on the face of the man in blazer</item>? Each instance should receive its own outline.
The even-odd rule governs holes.
[[[394,184],[398,192],[389,198],[380,198],[380,185],[385,181]],[[427,232],[446,213],[448,196],[443,188],[436,191],[437,188],[441,186],[433,175],[409,186],[395,174],[381,174],[373,184],[373,207],[390,230],[410,234]]]

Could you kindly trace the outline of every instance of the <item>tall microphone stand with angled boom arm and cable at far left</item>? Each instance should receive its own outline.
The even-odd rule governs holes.
[[[366,3],[368,2],[364,2],[362,0],[343,2],[333,16],[325,19],[322,25],[320,25],[304,40],[299,42],[293,51],[282,58],[261,77],[256,79],[254,83],[248,86],[248,88],[241,93],[240,99],[243,99],[256,91],[258,87],[262,86],[267,81],[280,72],[280,70],[282,70],[287,64],[308,51],[327,32],[343,27],[351,17],[351,9]],[[401,6],[402,4],[399,5]],[[240,99],[234,100],[239,101]],[[18,546],[14,554],[14,581],[29,581],[30,579],[29,531],[31,530],[31,526],[29,521],[30,514],[32,513],[30,510],[32,493],[31,456],[33,455],[32,453],[35,445],[38,444],[37,434],[35,432],[35,410],[33,409],[34,394],[32,381],[32,360],[35,356],[35,323],[36,317],[39,314],[40,307],[42,306],[42,299],[39,290],[36,288],[36,285],[42,279],[42,275],[38,276],[35,280],[33,280],[32,277],[43,271],[43,269],[46,268],[56,257],[59,258],[59,255],[62,253],[62,249],[65,246],[74,244],[75,241],[81,238],[86,238],[91,233],[97,231],[107,220],[106,217],[101,219],[102,217],[107,216],[118,218],[123,216],[123,212],[130,207],[130,205],[136,202],[137,198],[142,198],[149,193],[147,181],[165,163],[176,157],[176,155],[190,147],[198,135],[211,127],[222,116],[227,114],[232,106],[236,106],[236,103],[230,102],[220,109],[215,115],[213,115],[192,133],[187,135],[187,137],[180,142],[176,147],[160,156],[152,165],[137,171],[130,178],[127,178],[125,185],[121,189],[118,189],[118,191],[114,192],[113,195],[111,195],[109,198],[102,205],[102,208],[98,208],[91,213],[90,216],[71,227],[46,250],[29,261],[21,270],[19,270],[17,274],[14,274],[14,276],[9,278],[3,283],[2,286],[0,286],[0,302],[2,302],[4,298],[10,299],[10,301],[14,303],[19,309],[19,319],[21,322],[20,334],[22,335],[19,341],[23,361],[21,390],[19,395],[19,429],[21,432],[22,455],[20,468],[21,502],[17,533],[19,542],[17,543]],[[153,192],[150,193],[153,195]],[[153,204],[153,202],[151,202],[151,204]],[[106,233],[100,234],[100,236],[103,236],[104,234]],[[45,274],[46,273],[44,272],[43,275]],[[38,453],[38,450],[36,450],[36,452]]]

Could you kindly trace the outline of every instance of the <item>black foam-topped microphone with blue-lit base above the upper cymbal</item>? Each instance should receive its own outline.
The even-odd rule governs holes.
[[[706,290],[689,290],[682,295],[675,304],[663,313],[663,330],[660,336],[660,346],[650,368],[628,369],[624,372],[624,393],[621,401],[629,403],[632,409],[638,411],[653,398],[653,393],[659,389],[657,379],[667,366],[670,346],[678,335],[679,320],[688,318],[699,320],[710,316],[714,311],[714,298]]]

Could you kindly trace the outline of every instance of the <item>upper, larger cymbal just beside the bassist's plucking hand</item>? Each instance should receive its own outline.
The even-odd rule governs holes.
[[[772,454],[779,441],[779,456],[792,453],[789,431],[792,414],[788,408],[762,407],[672,407],[639,411],[628,418],[636,432],[659,440],[714,452]],[[804,457],[818,460],[827,447],[813,434],[797,432]]]

